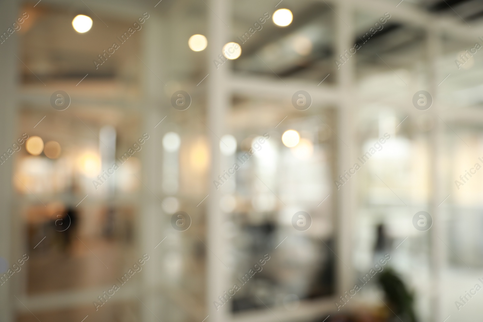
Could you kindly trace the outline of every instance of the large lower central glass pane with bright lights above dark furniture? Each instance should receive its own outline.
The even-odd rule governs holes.
[[[324,106],[294,110],[237,96],[227,116],[227,138],[238,143],[236,150],[220,143],[231,174],[220,178],[220,206],[229,214],[233,312],[294,309],[334,292],[336,114]]]

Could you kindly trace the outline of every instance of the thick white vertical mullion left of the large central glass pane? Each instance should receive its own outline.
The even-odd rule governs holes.
[[[230,104],[230,91],[227,82],[229,81],[230,63],[224,63],[217,69],[213,63],[221,54],[223,45],[227,42],[230,29],[225,25],[231,24],[231,0],[210,0],[210,8],[207,10],[209,31],[208,31],[208,104],[207,104],[207,129],[211,143],[211,169],[210,178],[217,178],[221,173],[220,168],[220,149],[219,139],[225,134],[225,121],[227,107]],[[222,20],[223,19],[223,20]],[[213,134],[214,133],[214,134]],[[216,191],[210,180],[209,197],[207,200],[206,211],[206,242],[209,250],[206,250],[207,258],[207,299],[209,318],[207,321],[226,322],[230,319],[228,305],[224,305],[218,310],[213,305],[213,301],[218,301],[218,296],[222,295],[224,288],[229,282],[229,271],[216,257],[220,257],[226,263],[226,234],[223,231],[223,213],[219,207],[220,195]],[[215,255],[216,254],[216,255]],[[229,266],[229,265],[228,265]]]

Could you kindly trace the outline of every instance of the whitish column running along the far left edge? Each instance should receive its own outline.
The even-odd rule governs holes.
[[[0,2],[0,32],[5,32],[17,19],[18,2]],[[5,149],[14,142],[14,131],[16,129],[16,90],[18,81],[18,64],[20,63],[14,55],[18,54],[18,33],[14,32],[7,41],[0,44],[0,146]],[[2,150],[1,153],[4,151]],[[15,156],[15,154],[13,155]],[[12,254],[12,167],[14,157],[0,165],[0,256],[5,258],[9,266],[15,261]],[[23,277],[25,278],[25,276]],[[12,280],[0,285],[0,321],[13,321],[14,307],[16,301],[13,296]]]

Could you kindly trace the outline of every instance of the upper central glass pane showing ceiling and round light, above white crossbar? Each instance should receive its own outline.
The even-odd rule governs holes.
[[[328,76],[325,82],[334,82],[334,13],[327,4],[285,0],[275,9],[256,1],[233,5],[231,41],[241,45],[233,64],[237,73],[315,84]]]

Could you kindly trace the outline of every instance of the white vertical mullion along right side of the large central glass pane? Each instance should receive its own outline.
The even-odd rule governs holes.
[[[335,6],[334,6],[335,5]],[[354,47],[354,19],[350,1],[339,0],[331,4],[338,15],[334,15],[336,28],[336,53],[342,54],[345,50]],[[337,55],[336,54],[336,55]],[[334,57],[337,59],[337,56]],[[337,131],[338,139],[338,174],[351,168],[353,155],[357,151],[354,141],[354,112],[353,112],[353,84],[354,84],[355,56],[350,57],[340,69],[337,70],[339,93],[341,94],[338,113]],[[343,141],[342,141],[343,140]],[[346,144],[349,146],[347,147]],[[353,219],[355,210],[355,177],[348,184],[344,184],[338,191],[337,236],[336,253],[343,263],[336,258],[337,294],[351,288],[353,270],[351,267],[353,243]],[[345,263],[345,264],[344,264]],[[348,265],[349,267],[347,267]]]

